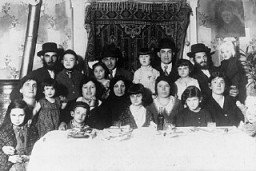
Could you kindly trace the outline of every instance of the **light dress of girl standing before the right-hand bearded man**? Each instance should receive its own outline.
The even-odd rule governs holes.
[[[179,78],[177,81],[175,81],[175,85],[177,86],[177,96],[179,100],[181,100],[182,93],[186,90],[188,86],[196,86],[200,90],[197,79],[191,77],[189,77],[189,79],[186,79],[186,82],[183,81],[183,79]]]

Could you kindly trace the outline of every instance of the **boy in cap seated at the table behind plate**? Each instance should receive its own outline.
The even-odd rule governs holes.
[[[73,119],[68,123],[67,129],[73,128],[84,128],[86,127],[86,118],[88,118],[88,113],[90,106],[85,102],[75,102],[72,110],[70,111]]]

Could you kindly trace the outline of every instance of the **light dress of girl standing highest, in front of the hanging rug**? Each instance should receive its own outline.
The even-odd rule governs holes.
[[[133,83],[141,83],[145,88],[148,88],[152,93],[155,93],[155,82],[159,75],[159,71],[152,66],[141,67],[135,71]]]

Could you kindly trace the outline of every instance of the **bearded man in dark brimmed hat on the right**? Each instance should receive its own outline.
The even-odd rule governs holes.
[[[211,49],[203,43],[192,45],[191,52],[187,53],[190,58],[193,58],[195,64],[192,77],[198,80],[202,94],[205,97],[211,96],[208,79],[210,78],[212,71],[216,70],[211,60],[211,55],[213,53],[214,52],[211,52]]]

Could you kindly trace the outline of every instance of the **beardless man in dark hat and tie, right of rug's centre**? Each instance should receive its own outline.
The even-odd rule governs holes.
[[[171,82],[175,82],[178,79],[178,73],[174,68],[175,55],[177,48],[174,40],[169,38],[163,38],[159,41],[157,56],[161,62],[155,66],[160,72],[160,75],[167,76]]]

